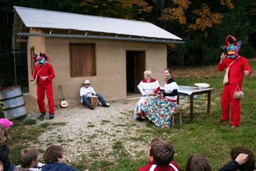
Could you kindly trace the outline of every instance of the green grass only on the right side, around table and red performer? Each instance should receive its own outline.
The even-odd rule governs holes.
[[[250,61],[249,64],[252,70],[255,71],[256,62]],[[211,68],[213,69],[209,69],[209,71],[216,71],[216,66],[211,66]],[[173,73],[175,73],[175,70],[173,70]],[[175,76],[175,74],[173,75]],[[193,73],[189,73],[189,75],[193,75]],[[214,170],[219,170],[226,162],[230,161],[229,152],[233,147],[247,147],[256,155],[256,115],[254,111],[256,109],[256,74],[253,73],[249,78],[244,78],[243,92],[245,98],[241,100],[241,126],[236,129],[219,124],[223,75],[223,72],[217,73],[216,71],[216,74],[212,74],[207,73],[206,70],[205,76],[200,76],[200,78],[197,75],[189,76],[189,78],[182,78],[182,76],[176,78],[178,85],[193,86],[196,82],[206,82],[215,89],[211,94],[211,115],[206,114],[206,95],[198,96],[194,100],[193,122],[189,120],[189,108],[186,107],[183,109],[182,126],[176,124],[171,129],[160,129],[149,124],[149,130],[139,130],[141,137],[137,141],[144,141],[143,137],[150,136],[152,138],[161,137],[172,142],[176,152],[174,159],[182,170],[186,166],[187,158],[193,153],[200,153],[208,158]],[[149,144],[149,142],[147,143]],[[117,159],[118,166],[106,170],[136,170],[138,167],[145,165],[146,162],[146,156],[144,159],[120,156]]]

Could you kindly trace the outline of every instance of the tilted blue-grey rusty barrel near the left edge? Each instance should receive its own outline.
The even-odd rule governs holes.
[[[0,90],[0,103],[3,107],[4,117],[12,120],[26,115],[25,103],[20,86],[5,87]]]

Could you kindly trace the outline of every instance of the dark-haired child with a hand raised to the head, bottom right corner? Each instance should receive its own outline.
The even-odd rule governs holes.
[[[245,147],[235,147],[231,150],[230,156],[232,161],[227,163],[220,170],[241,170],[253,171],[255,168],[255,160],[252,151]]]

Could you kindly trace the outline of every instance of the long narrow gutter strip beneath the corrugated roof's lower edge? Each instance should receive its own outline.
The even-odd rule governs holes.
[[[135,38],[135,37],[113,37],[113,36],[94,36],[94,35],[67,35],[67,34],[37,34],[19,32],[18,36],[42,36],[42,37],[62,37],[62,38],[96,38],[107,40],[125,40],[125,41],[140,41],[140,42],[155,42],[155,43],[179,43],[184,44],[182,40],[159,40],[150,38]]]

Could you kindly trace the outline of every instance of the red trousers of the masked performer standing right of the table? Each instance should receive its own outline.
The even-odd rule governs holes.
[[[239,89],[242,90],[242,86],[238,85]],[[239,126],[240,124],[240,111],[241,104],[240,100],[236,100],[233,97],[236,91],[237,84],[227,84],[224,86],[221,97],[221,108],[222,108],[222,120],[230,119],[230,102],[231,102],[231,125]]]

